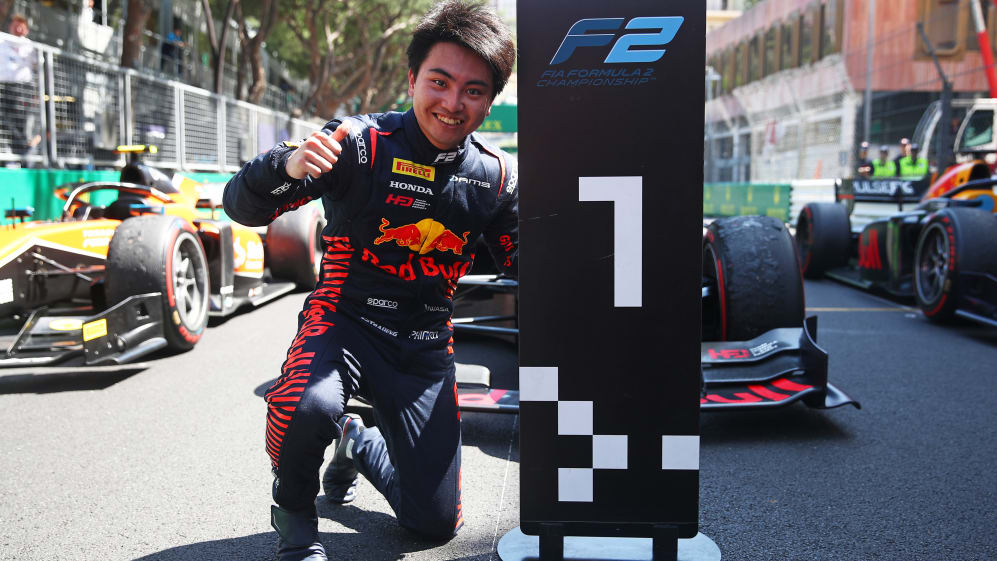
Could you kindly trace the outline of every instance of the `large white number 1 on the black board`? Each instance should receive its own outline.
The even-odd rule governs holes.
[[[640,176],[578,178],[579,201],[613,203],[613,305],[617,308],[643,305],[643,179]]]

